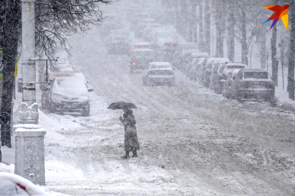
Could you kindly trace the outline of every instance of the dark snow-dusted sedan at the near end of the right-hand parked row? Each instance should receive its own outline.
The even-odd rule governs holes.
[[[242,99],[274,100],[275,85],[266,70],[241,69],[233,79],[234,96],[238,101]]]

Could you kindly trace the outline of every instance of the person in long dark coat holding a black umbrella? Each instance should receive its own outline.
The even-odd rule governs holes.
[[[119,117],[121,123],[124,125],[124,149],[126,154],[121,156],[121,158],[128,159],[129,153],[132,151],[133,156],[137,157],[137,150],[140,149],[138,138],[137,138],[137,131],[136,131],[136,120],[133,115],[133,111],[131,108],[135,108],[136,106],[132,103],[127,103],[123,101],[115,102],[109,105],[108,109],[123,109],[124,114]]]

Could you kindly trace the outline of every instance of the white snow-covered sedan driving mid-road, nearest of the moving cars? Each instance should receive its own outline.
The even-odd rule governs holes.
[[[175,82],[174,69],[169,62],[151,62],[142,78],[144,85],[167,84],[173,85]]]

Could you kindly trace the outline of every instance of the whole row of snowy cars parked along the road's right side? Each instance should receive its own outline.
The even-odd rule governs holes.
[[[270,102],[275,99],[275,85],[267,70],[249,69],[241,62],[197,52],[184,53],[183,63],[178,66],[191,80],[227,99]]]

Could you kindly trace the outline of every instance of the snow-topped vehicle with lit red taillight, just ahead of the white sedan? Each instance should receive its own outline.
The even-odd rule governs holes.
[[[149,48],[138,48],[132,52],[130,73],[148,69],[148,63],[154,61],[154,51]]]

